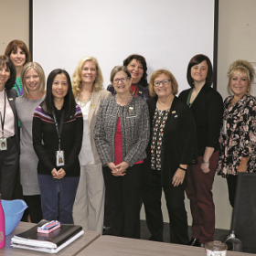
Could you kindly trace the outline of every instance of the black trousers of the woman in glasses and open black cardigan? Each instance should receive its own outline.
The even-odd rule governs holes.
[[[164,219],[161,209],[161,173],[151,170],[152,184],[143,185],[143,201],[150,240],[163,241]],[[187,244],[187,211],[184,204],[186,185],[163,187],[170,219],[170,241]]]

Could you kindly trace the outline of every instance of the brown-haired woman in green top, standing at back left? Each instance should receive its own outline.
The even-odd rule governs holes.
[[[23,94],[20,75],[23,66],[30,61],[30,53],[23,41],[13,40],[5,48],[5,55],[15,64],[16,81],[14,83],[14,89],[16,90],[17,96],[20,97]]]

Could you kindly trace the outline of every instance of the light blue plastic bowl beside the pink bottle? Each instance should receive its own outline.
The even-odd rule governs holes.
[[[9,235],[23,216],[27,204],[21,199],[1,200],[5,212],[5,236]]]

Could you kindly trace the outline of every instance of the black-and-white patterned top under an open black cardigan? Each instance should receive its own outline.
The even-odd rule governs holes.
[[[161,171],[162,162],[162,140],[164,135],[165,121],[168,117],[169,110],[160,111],[155,108],[153,118],[153,135],[151,141],[151,169]]]

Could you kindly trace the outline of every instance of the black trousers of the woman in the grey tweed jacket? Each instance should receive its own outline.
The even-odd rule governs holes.
[[[125,176],[112,176],[111,169],[103,167],[103,176],[111,206],[110,234],[139,239],[142,164],[129,167]]]

